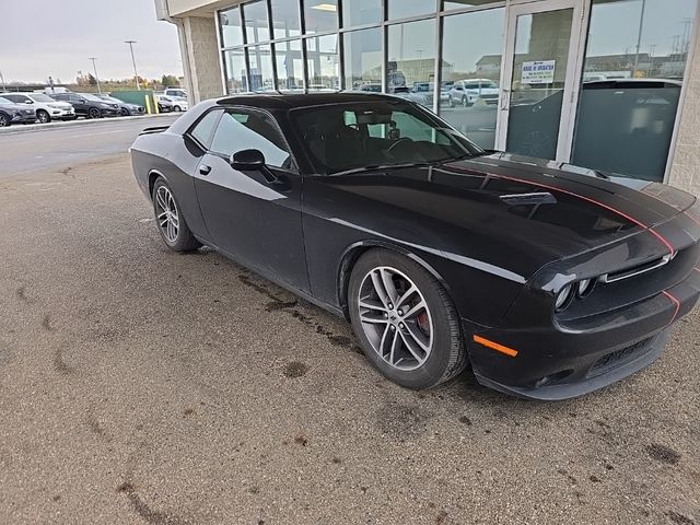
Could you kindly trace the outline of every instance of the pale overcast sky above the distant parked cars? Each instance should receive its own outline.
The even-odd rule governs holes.
[[[7,82],[73,82],[92,72],[97,57],[101,79],[133,75],[129,46],[135,45],[139,74],[182,75],[177,30],[155,20],[153,0],[0,0],[0,71]]]

